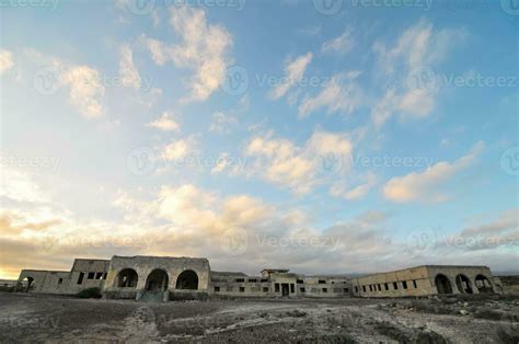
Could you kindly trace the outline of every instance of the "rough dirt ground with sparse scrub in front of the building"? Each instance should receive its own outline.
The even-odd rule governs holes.
[[[0,293],[0,342],[519,343],[519,298],[142,303]]]

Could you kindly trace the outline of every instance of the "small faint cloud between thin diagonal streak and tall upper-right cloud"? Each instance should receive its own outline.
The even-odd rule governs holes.
[[[314,98],[305,96],[299,104],[299,116],[305,117],[322,107],[327,114],[351,114],[362,100],[362,92],[355,80],[359,71],[334,74],[324,89]]]

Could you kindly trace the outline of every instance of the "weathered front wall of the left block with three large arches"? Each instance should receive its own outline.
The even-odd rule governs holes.
[[[119,287],[118,275],[122,271],[131,268],[137,273],[138,280],[135,287]],[[193,271],[198,277],[198,288],[189,293],[207,293],[209,288],[209,261],[207,259],[168,257],[168,256],[113,256],[109,262],[104,294],[108,298],[138,298],[147,287],[150,274],[164,271],[168,275],[168,291],[175,293],[177,277],[186,271]],[[180,291],[183,293],[183,291]]]

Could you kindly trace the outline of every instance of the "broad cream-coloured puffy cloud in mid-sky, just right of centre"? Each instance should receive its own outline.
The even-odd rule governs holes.
[[[323,163],[333,158],[336,173],[349,168],[353,144],[348,135],[316,130],[303,147],[288,139],[269,136],[254,137],[245,147],[245,156],[253,158],[249,174],[296,194],[305,194],[323,182]],[[325,173],[324,173],[325,174]]]

